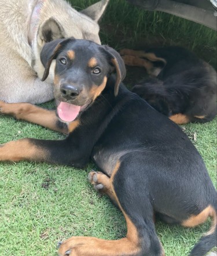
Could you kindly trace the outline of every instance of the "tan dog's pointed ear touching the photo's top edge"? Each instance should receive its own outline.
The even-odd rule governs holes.
[[[109,0],[101,0],[100,2],[94,3],[94,5],[81,11],[84,15],[89,16],[92,20],[98,22],[105,12],[105,8],[108,5]]]

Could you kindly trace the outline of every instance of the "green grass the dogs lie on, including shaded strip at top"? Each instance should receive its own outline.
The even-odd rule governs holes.
[[[72,2],[79,9],[95,1]],[[138,42],[179,44],[214,65],[216,62],[214,31],[165,13],[141,11],[124,0],[111,0],[101,27],[102,42],[116,49],[134,47]],[[184,127],[215,186],[216,121]],[[64,135],[0,116],[0,143],[26,137],[61,139]],[[123,237],[126,224],[122,214],[87,182],[91,168],[92,164],[76,170],[44,163],[0,163],[0,256],[54,256],[57,241],[70,236]],[[186,229],[157,222],[156,230],[167,256],[186,256],[209,225],[208,221]]]

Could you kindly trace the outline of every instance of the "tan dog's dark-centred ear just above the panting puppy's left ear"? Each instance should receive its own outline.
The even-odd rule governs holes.
[[[65,38],[65,31],[61,24],[53,17],[47,19],[39,26],[37,43],[40,47],[58,38]]]

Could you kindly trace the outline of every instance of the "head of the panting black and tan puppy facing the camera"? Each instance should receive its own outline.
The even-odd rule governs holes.
[[[49,75],[56,59],[54,96],[57,114],[62,121],[71,122],[87,109],[101,94],[108,76],[116,70],[114,93],[126,75],[122,57],[108,46],[83,39],[57,39],[45,44],[41,61],[45,66],[42,81]]]

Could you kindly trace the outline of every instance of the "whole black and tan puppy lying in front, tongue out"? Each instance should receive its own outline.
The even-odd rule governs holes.
[[[42,62],[56,59],[55,111],[28,103],[0,103],[1,112],[68,134],[64,140],[21,139],[0,147],[1,161],[46,161],[84,167],[90,160],[94,188],[107,194],[123,212],[127,235],[107,241],[71,237],[59,255],[163,256],[155,213],[169,223],[193,227],[210,216],[209,233],[190,255],[216,245],[216,190],[203,159],[174,122],[149,106],[121,81],[125,67],[108,46],[65,39],[45,45]],[[111,72],[116,69],[116,78]]]

